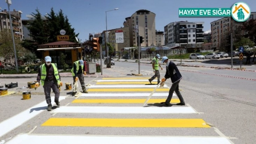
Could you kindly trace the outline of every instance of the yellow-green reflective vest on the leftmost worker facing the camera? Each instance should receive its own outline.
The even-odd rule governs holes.
[[[59,77],[59,71],[57,69],[57,64],[52,63],[51,65],[54,69],[54,76],[57,80],[57,83],[60,84],[60,77]],[[45,66],[45,64],[40,65],[40,70],[41,70],[41,83],[42,83],[42,86],[43,86],[44,80],[46,78],[46,66]]]

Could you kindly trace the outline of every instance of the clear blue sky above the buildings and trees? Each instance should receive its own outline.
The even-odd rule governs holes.
[[[219,19],[213,18],[179,18],[179,8],[230,8],[235,0],[12,0],[10,11],[13,9],[23,12],[22,19],[27,19],[26,14],[39,9],[45,15],[51,8],[55,12],[60,9],[68,16],[69,22],[79,33],[78,38],[84,42],[89,38],[89,33],[102,32],[106,30],[106,11],[119,8],[118,10],[107,12],[107,29],[123,27],[126,17],[132,16],[137,10],[146,9],[156,14],[155,27],[163,31],[164,26],[175,21],[205,22],[204,31],[210,29],[210,22]],[[243,0],[247,3],[251,12],[256,12],[256,0]],[[5,0],[0,0],[1,10],[7,9]]]

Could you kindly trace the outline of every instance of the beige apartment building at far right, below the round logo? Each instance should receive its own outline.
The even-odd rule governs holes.
[[[256,12],[251,12],[251,16],[247,21],[250,19],[256,19]],[[235,30],[243,23],[235,21],[232,17],[223,17],[211,22],[210,24],[212,30],[212,48],[219,49],[221,44],[226,41],[227,33]]]

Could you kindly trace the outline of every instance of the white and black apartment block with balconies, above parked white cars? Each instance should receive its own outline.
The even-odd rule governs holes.
[[[165,46],[201,47],[204,43],[204,22],[179,21],[165,26]]]

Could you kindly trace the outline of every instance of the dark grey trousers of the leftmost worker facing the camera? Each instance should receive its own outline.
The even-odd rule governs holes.
[[[54,101],[59,101],[59,97],[60,97],[60,91],[59,91],[59,88],[58,88],[57,81],[54,81],[54,80],[44,81],[43,89],[44,89],[45,100],[46,100],[48,105],[52,105],[51,104],[51,102],[52,102],[51,101],[51,88],[52,88],[52,91],[55,94]]]

